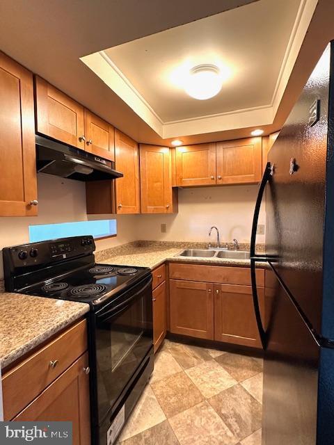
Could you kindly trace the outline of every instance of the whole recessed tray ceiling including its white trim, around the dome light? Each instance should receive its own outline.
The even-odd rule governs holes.
[[[317,0],[259,0],[81,60],[162,138],[273,124]],[[182,73],[228,72],[216,97],[186,95]],[[180,75],[181,74],[181,75]]]

